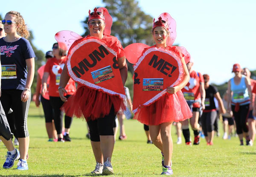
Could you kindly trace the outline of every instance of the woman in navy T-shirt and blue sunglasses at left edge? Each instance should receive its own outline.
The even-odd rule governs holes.
[[[26,161],[29,150],[27,116],[31,99],[30,87],[35,72],[35,53],[29,41],[26,40],[29,37],[29,31],[19,12],[7,12],[2,24],[6,37],[0,39],[2,63],[0,100],[6,115],[12,107],[15,116],[14,124],[17,128],[20,150],[17,169],[28,170]],[[6,163],[8,165],[6,168],[12,167],[13,163],[11,162],[17,158],[17,151],[14,154],[7,152]]]

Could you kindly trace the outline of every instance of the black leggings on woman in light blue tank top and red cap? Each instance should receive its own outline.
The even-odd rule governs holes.
[[[239,111],[235,111],[235,106],[231,105],[233,115],[236,122],[236,133],[241,134],[243,132],[248,132],[248,127],[246,125],[247,116],[249,115],[249,105],[245,104],[242,106],[239,106]]]

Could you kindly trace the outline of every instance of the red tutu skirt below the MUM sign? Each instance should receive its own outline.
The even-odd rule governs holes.
[[[86,86],[79,87],[73,96],[61,107],[67,116],[85,118],[86,121],[105,117],[110,113],[111,107],[115,113],[121,108],[125,110],[124,101],[119,96],[109,95]]]

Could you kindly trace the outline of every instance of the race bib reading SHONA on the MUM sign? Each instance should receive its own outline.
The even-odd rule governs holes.
[[[100,82],[106,81],[114,77],[111,66],[107,66],[99,70],[93,71],[91,72],[91,75],[95,84],[99,84]]]

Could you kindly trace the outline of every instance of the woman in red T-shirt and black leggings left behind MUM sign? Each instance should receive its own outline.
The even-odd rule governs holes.
[[[44,67],[44,75],[42,78],[42,95],[44,96],[47,93],[47,79],[50,78],[48,90],[50,103],[54,113],[54,124],[58,134],[58,142],[71,141],[69,132],[73,118],[65,115],[65,132],[62,134],[64,112],[60,110],[63,102],[61,101],[58,92],[61,72],[64,64],[67,61],[66,51],[61,49],[58,46],[58,43],[55,43],[52,46],[52,54],[54,55],[54,58],[49,59]],[[67,82],[65,89],[67,90],[67,93],[65,93],[66,97],[73,95],[73,93],[76,91],[75,82],[70,79]]]

